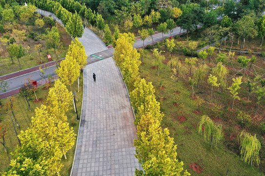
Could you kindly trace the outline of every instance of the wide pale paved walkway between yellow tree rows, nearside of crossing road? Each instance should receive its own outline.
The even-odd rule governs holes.
[[[96,74],[96,82],[92,74]],[[140,169],[135,158],[133,111],[112,58],[84,70],[81,127],[72,176],[134,176]]]

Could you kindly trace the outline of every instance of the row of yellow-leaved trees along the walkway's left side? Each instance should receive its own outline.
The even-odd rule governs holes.
[[[47,105],[36,108],[30,128],[20,132],[21,145],[14,153],[10,170],[2,176],[60,175],[61,157],[64,155],[66,159],[76,135],[67,122],[66,112],[71,109],[73,95],[65,85],[71,88],[80,75],[80,69],[86,65],[86,59],[84,47],[76,38],[56,71],[60,78],[49,90]]]

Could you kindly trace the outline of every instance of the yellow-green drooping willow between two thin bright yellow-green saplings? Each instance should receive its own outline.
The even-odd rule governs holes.
[[[221,88],[225,89],[227,86],[227,74],[228,69],[223,66],[222,62],[219,62],[217,66],[213,68],[213,75],[217,77],[217,82],[220,84],[219,93],[221,93]]]

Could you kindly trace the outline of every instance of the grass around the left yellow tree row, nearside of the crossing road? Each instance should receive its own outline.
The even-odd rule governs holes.
[[[76,102],[79,117],[81,115],[81,107],[82,107],[82,92],[83,92],[83,86],[82,85],[83,85],[83,76],[81,74],[81,76],[80,76],[80,92],[79,93],[77,92],[78,102]],[[77,81],[75,83],[75,87],[77,88]],[[18,133],[20,133],[20,130],[25,131],[28,127],[30,127],[31,117],[33,117],[35,115],[34,109],[36,107],[40,107],[41,104],[46,103],[45,99],[46,99],[46,96],[47,96],[47,93],[49,90],[48,89],[42,89],[42,88],[43,88],[43,86],[39,87],[39,89],[37,90],[36,93],[37,93],[37,97],[42,98],[43,101],[38,102],[38,103],[33,103],[32,101],[30,101],[32,111],[28,110],[27,103],[24,99],[17,98],[17,101],[15,103],[14,114],[17,118],[18,123],[20,124],[20,129],[18,129],[18,127],[16,126]],[[68,88],[68,89],[70,90],[70,88]],[[2,100],[3,105],[5,104],[7,99],[8,98],[5,98]],[[3,110],[1,109],[1,112],[2,111]],[[13,125],[12,125],[12,122],[10,120],[10,115],[12,115],[11,112],[0,115],[0,121],[2,121],[4,124],[6,124],[7,130],[8,130],[7,135],[5,137],[7,153],[4,152],[2,145],[0,146],[0,172],[4,171],[6,168],[8,168],[8,166],[10,164],[10,160],[12,159],[11,153],[15,151],[16,146],[18,145],[18,140],[17,140],[17,137],[16,137],[15,132],[13,130]],[[75,134],[78,134],[80,121],[77,120],[77,115],[76,115],[76,112],[74,111],[74,109],[69,110],[67,112],[67,117],[68,117],[68,123],[69,123],[70,127],[73,127]],[[68,151],[68,153],[66,154],[67,159],[64,159],[64,157],[62,156],[62,163],[64,166],[60,172],[61,176],[69,176],[70,175],[72,163],[73,163],[73,159],[74,159],[74,154],[75,154],[75,148],[76,148],[76,140],[75,140],[75,144],[72,147],[72,149],[70,149]]]

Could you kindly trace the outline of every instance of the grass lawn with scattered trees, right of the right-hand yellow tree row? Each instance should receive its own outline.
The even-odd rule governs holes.
[[[163,49],[165,50],[165,49]],[[167,56],[167,53],[165,53]],[[174,52],[175,56],[183,58],[183,54],[180,52]],[[216,55],[216,54],[215,54]],[[166,57],[167,58],[167,57]],[[201,62],[201,60],[199,60]],[[165,114],[162,121],[162,127],[168,128],[170,134],[174,137],[175,143],[178,145],[177,153],[178,158],[183,161],[184,169],[192,176],[225,176],[227,170],[227,176],[263,176],[261,170],[256,167],[250,167],[245,162],[241,161],[239,155],[239,145],[236,137],[233,138],[238,132],[242,131],[236,119],[238,110],[249,110],[247,106],[251,106],[251,102],[244,100],[237,101],[235,104],[236,112],[231,112],[229,108],[232,105],[232,99],[229,95],[229,91],[222,91],[218,93],[217,89],[214,90],[214,101],[209,102],[210,89],[205,83],[200,88],[195,88],[195,96],[200,96],[205,100],[206,103],[201,107],[202,115],[208,115],[212,119],[217,118],[215,111],[213,110],[214,105],[220,105],[222,107],[223,115],[221,116],[221,123],[223,125],[225,135],[231,135],[224,137],[224,139],[214,144],[213,148],[210,148],[210,142],[204,141],[204,136],[198,133],[198,123],[201,120],[202,115],[194,113],[197,110],[195,100],[191,98],[191,87],[187,83],[189,75],[186,75],[184,79],[180,80],[174,88],[174,83],[171,76],[171,69],[166,65],[159,72],[157,76],[157,69],[153,68],[154,59],[152,54],[148,52],[143,57],[143,65],[140,66],[140,75],[145,78],[148,82],[152,82],[157,100],[161,103],[161,111]],[[232,74],[232,73],[231,73]],[[163,86],[164,89],[159,88]],[[230,86],[229,81],[229,86]],[[245,88],[242,88],[239,95],[242,98],[244,95]],[[180,92],[182,96],[179,103],[183,103],[183,114],[181,114],[180,107],[174,106],[174,91]],[[254,97],[251,97],[254,101]],[[252,103],[253,103],[252,102]],[[254,106],[254,105],[252,105]],[[251,109],[252,110],[252,109]],[[260,113],[264,112],[264,107],[260,109]],[[186,121],[180,122],[178,117],[184,115]],[[252,129],[256,129],[256,125],[252,124],[249,127],[249,131],[255,132]],[[261,133],[257,134],[258,138],[261,139]],[[231,140],[228,140],[231,137]],[[261,139],[262,140],[262,139]],[[263,145],[264,140],[261,141]],[[261,153],[264,153],[264,148]],[[261,155],[261,168],[264,165],[263,155]],[[191,163],[196,163],[203,169],[201,174],[194,172],[189,169]]]

